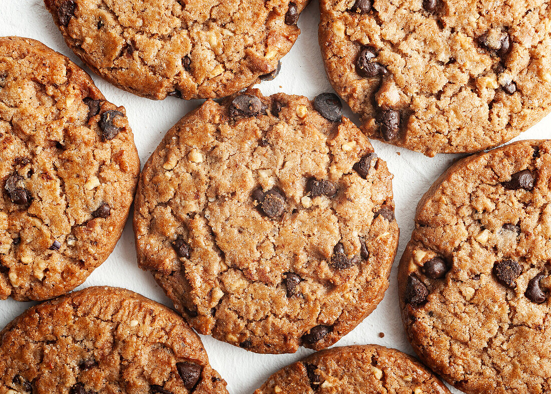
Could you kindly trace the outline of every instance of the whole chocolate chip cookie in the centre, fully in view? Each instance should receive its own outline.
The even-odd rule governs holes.
[[[321,349],[383,298],[392,175],[339,105],[257,90],[208,100],[145,164],[138,263],[199,333],[258,353]]]

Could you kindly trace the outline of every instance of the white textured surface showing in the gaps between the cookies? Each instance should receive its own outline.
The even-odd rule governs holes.
[[[283,91],[288,94],[301,94],[314,98],[323,91],[332,91],[323,69],[317,44],[318,19],[318,4],[316,0],[313,0],[300,17],[299,27],[302,33],[293,49],[283,58],[279,76],[271,82],[263,82],[260,85],[263,94]],[[83,66],[82,62],[65,45],[42,0],[0,0],[0,36],[9,35],[30,37],[42,41],[71,58],[79,66]],[[84,69],[90,73],[87,67]],[[183,101],[168,98],[164,101],[152,101],[143,99],[113,87],[97,75],[92,74],[92,77],[107,100],[126,107],[142,165],[161,141],[164,133],[188,111],[201,104],[199,100]],[[357,123],[358,119],[352,116],[349,110],[345,111],[345,115]],[[548,116],[538,125],[523,133],[520,138],[549,138],[550,126],[551,116]],[[452,160],[460,155],[440,154],[435,158],[426,158],[420,153],[399,149],[377,141],[374,141],[373,145],[375,151],[387,161],[388,167],[394,174],[396,219],[401,228],[399,250],[391,275],[390,288],[385,299],[363,323],[337,344],[344,346],[377,343],[412,353],[399,317],[396,266],[399,256],[409,240],[413,228],[414,209],[419,198],[436,177],[452,163]],[[153,277],[137,267],[131,220],[128,221],[122,238],[112,255],[91,274],[79,289],[91,285],[124,287],[171,306],[170,300],[156,285]],[[29,306],[31,303],[18,303],[13,300],[0,301],[0,328]],[[383,338],[379,336],[381,332],[385,334]],[[301,349],[296,354],[255,354],[210,337],[202,336],[202,339],[207,348],[210,363],[228,382],[228,390],[232,394],[252,393],[276,370],[311,353],[311,350]],[[458,393],[458,391],[454,392]]]

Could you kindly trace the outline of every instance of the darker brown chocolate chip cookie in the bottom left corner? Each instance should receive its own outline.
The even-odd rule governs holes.
[[[32,307],[0,333],[0,392],[222,394],[201,339],[175,312],[91,287]]]

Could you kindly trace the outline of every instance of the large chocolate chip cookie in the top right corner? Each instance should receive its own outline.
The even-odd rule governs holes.
[[[369,137],[428,156],[478,152],[549,113],[550,7],[321,0],[323,61]]]

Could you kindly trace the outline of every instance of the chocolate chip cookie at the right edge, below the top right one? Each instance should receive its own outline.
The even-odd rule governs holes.
[[[458,161],[425,193],[399,267],[419,357],[466,393],[551,390],[551,141]]]

